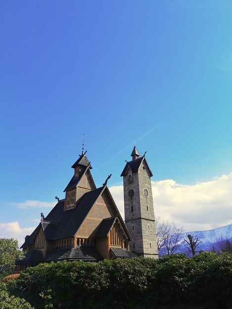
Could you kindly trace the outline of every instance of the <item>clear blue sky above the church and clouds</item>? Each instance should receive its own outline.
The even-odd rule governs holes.
[[[50,209],[17,203],[64,197],[83,133],[97,186],[110,173],[121,185],[133,140],[153,181],[229,175],[231,13],[229,1],[1,1],[2,224],[34,227]]]

